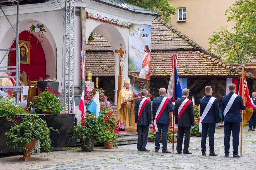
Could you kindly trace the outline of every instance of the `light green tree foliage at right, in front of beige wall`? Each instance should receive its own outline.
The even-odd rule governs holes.
[[[210,50],[228,63],[250,63],[256,56],[256,0],[240,0],[226,10],[227,21],[234,22],[228,30],[221,27],[209,38]]]

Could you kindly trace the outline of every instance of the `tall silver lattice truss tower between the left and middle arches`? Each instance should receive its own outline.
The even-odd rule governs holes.
[[[65,92],[64,102],[66,111],[72,113],[75,107],[74,102],[74,36],[75,36],[75,2],[66,0],[65,10]],[[71,109],[72,108],[72,109]]]

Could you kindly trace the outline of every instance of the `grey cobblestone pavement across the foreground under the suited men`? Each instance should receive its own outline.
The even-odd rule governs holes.
[[[202,156],[201,137],[190,137],[191,155],[154,152],[154,142],[147,143],[150,152],[138,152],[136,144],[117,146],[113,149],[96,147],[94,152],[81,152],[80,148],[70,150],[58,149],[50,155],[40,153],[33,155],[35,161],[21,162],[19,156],[0,157],[0,169],[97,169],[97,170],[158,170],[158,169],[256,169],[256,131],[243,128],[243,152],[241,158],[233,158],[232,137],[230,139],[229,158],[224,157],[224,129],[215,132],[215,153],[218,156]],[[241,135],[241,134],[240,134]],[[172,144],[168,143],[172,150]],[[207,140],[207,150],[209,144]],[[239,143],[240,154],[240,143]],[[20,155],[21,156],[21,155]]]

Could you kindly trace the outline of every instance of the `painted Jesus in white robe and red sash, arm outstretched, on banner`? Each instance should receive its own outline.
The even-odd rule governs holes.
[[[151,52],[148,48],[148,45],[144,45],[144,52],[139,51],[134,46],[131,46],[135,50],[134,55],[137,57],[143,58],[142,69],[140,71],[139,77],[144,79],[150,79],[150,61],[151,61]]]

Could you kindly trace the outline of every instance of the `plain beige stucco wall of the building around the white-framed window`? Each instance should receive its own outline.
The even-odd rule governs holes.
[[[177,12],[171,19],[171,24],[182,33],[187,35],[208,49],[209,40],[213,31],[220,26],[231,28],[234,23],[227,22],[226,9],[232,6],[235,0],[170,0],[175,7],[187,8],[186,22],[177,22]]]

